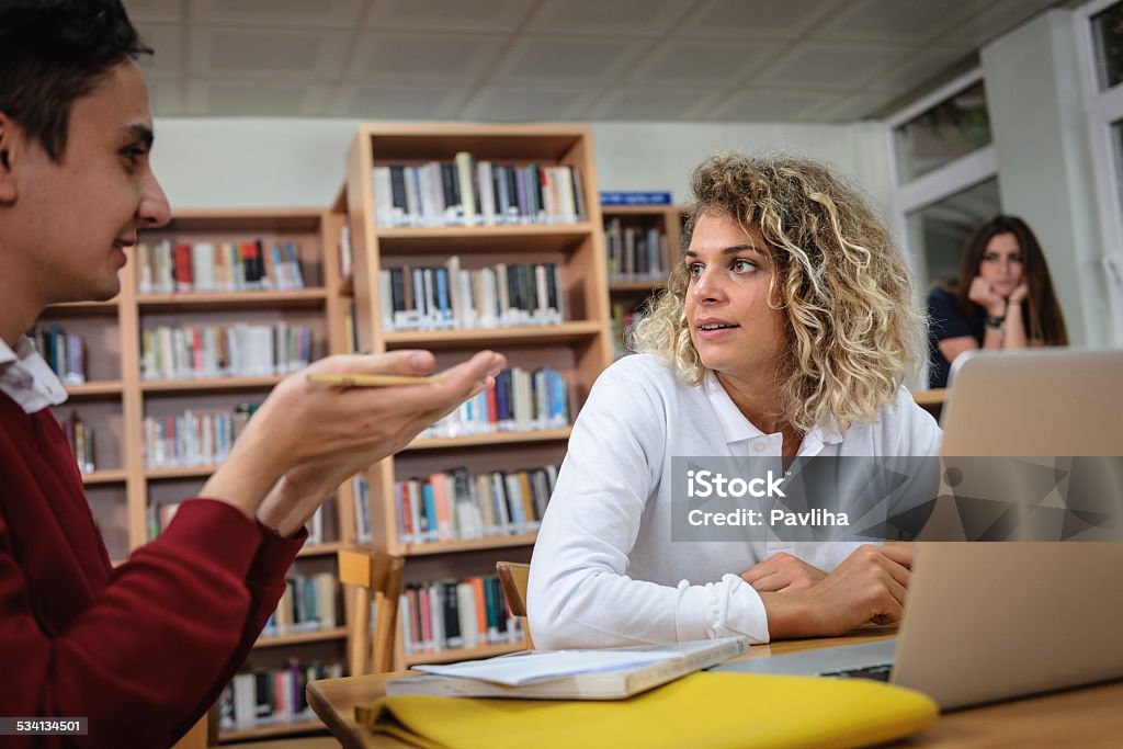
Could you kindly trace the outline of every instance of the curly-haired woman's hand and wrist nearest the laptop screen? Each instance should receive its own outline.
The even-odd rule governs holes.
[[[769,637],[832,637],[898,621],[912,560],[911,547],[862,546],[812,587],[760,593]]]

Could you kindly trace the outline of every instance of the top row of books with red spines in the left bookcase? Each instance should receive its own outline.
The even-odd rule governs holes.
[[[140,243],[136,267],[141,294],[304,287],[300,254],[291,241],[267,247],[261,239]]]

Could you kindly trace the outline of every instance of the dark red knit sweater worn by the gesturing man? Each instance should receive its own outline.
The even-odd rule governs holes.
[[[77,740],[0,745],[172,745],[245,660],[302,544],[194,499],[115,569],[58,422],[0,393],[0,715],[89,718]]]

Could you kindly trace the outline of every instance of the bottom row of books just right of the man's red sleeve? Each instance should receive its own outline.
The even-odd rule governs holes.
[[[308,683],[343,675],[343,664],[298,660],[291,660],[284,668],[238,674],[219,697],[219,729],[232,731],[314,720],[304,696]]]

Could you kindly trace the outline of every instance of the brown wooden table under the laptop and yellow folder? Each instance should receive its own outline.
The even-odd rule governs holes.
[[[893,627],[870,627],[841,638],[787,640],[752,646],[742,658],[767,658],[834,645],[892,637]],[[1042,656],[1046,656],[1042,650]],[[347,749],[410,747],[355,722],[355,707],[385,694],[399,674],[323,679],[308,685],[308,703]],[[1123,682],[1026,697],[944,713],[923,733],[893,747],[1119,747],[1123,746]]]

